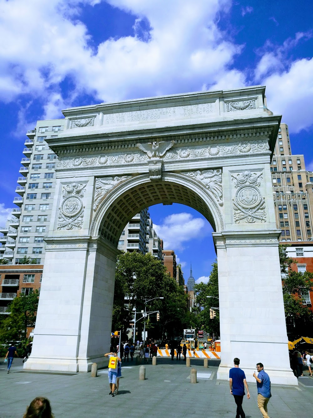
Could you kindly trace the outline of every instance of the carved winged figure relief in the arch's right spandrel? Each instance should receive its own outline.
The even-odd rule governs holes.
[[[210,191],[217,203],[223,206],[222,170],[220,168],[217,170],[191,171],[182,174],[204,184],[205,188]]]

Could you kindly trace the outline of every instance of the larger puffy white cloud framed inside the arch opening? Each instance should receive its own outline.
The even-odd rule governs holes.
[[[162,238],[164,250],[184,250],[184,244],[203,234],[205,221],[189,213],[177,213],[164,219],[162,225],[154,224],[156,233]]]

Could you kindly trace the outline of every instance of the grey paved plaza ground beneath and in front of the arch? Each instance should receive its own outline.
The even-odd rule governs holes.
[[[109,396],[107,370],[76,375],[23,372],[21,359],[14,359],[11,372],[0,359],[0,418],[18,418],[36,396],[47,397],[56,418],[70,417],[235,417],[236,405],[229,383],[216,379],[219,360],[192,359],[197,369],[196,385],[190,383],[190,370],[184,361],[158,358],[157,365],[146,365],[146,380],[139,380],[135,361],[122,364],[119,394]],[[124,364],[126,364],[124,366]],[[266,369],[265,369],[266,370]],[[305,371],[308,374],[307,371]],[[256,384],[249,384],[250,400],[243,409],[247,418],[262,418],[257,408]],[[313,379],[302,377],[299,386],[272,385],[268,404],[270,418],[308,418],[313,415]]]

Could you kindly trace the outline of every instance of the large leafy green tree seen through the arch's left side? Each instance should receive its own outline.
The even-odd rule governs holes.
[[[124,307],[124,297],[129,298],[129,304]],[[159,311],[160,323],[156,322],[156,314],[146,321],[146,328],[152,333],[164,334],[180,328],[185,320],[187,311],[187,296],[176,280],[167,273],[166,267],[150,253],[143,255],[139,252],[122,252],[116,263],[114,306],[112,331],[129,328],[132,311],[136,306],[137,312],[144,310],[144,299],[154,299],[147,303],[147,311]],[[139,319],[140,315],[136,317]],[[147,318],[148,319],[148,318]],[[136,326],[142,329],[143,321]]]

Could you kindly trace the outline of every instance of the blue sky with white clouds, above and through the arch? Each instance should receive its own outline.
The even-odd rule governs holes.
[[[70,106],[265,84],[313,170],[312,22],[301,0],[0,0],[0,223],[26,131]],[[215,253],[202,215],[176,204],[150,213],[185,278],[190,261],[207,277]]]

